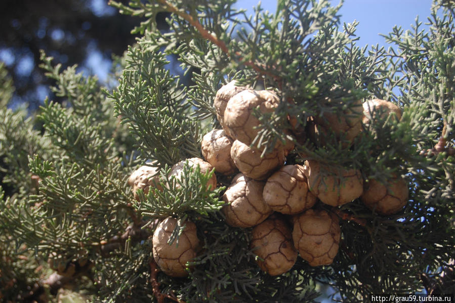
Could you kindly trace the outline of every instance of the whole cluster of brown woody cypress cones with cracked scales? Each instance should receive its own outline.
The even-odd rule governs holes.
[[[307,121],[304,131],[289,119],[287,140],[279,141],[264,153],[252,147],[261,123],[253,114],[273,113],[280,103],[278,95],[269,90],[255,91],[236,86],[232,81],[216,94],[214,106],[222,129],[205,134],[201,142],[202,156],[186,161],[199,166],[201,172],[211,171],[234,175],[223,195],[222,208],[226,222],[238,228],[251,229],[252,251],[258,255],[259,267],[270,275],[290,270],[298,255],[310,266],[327,265],[338,253],[341,229],[338,216],[317,206],[317,202],[338,207],[360,199],[367,207],[381,215],[400,211],[407,203],[408,187],[401,177],[388,182],[363,180],[358,169],[327,166],[308,159],[303,165],[286,164],[286,156],[293,152],[294,143],[306,133],[311,140],[324,145],[329,135],[349,145],[362,132],[362,124],[373,119],[401,119],[400,109],[393,103],[373,99],[353,101],[342,115],[325,113]],[[171,174],[179,176],[186,161],[176,164]],[[145,193],[158,183],[157,171],[143,166],[135,171],[129,183]],[[216,175],[208,183],[217,186]],[[186,262],[197,254],[199,240],[196,226],[186,221],[179,244],[168,240],[179,221],[169,217],[162,221],[153,235],[153,256],[160,269],[170,275],[187,275]],[[174,241],[175,242],[175,241]]]

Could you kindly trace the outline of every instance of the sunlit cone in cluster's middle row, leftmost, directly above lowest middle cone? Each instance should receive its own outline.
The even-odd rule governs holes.
[[[265,182],[241,173],[234,177],[223,195],[223,200],[229,203],[222,208],[229,225],[249,228],[261,223],[273,212],[262,199],[264,185]]]

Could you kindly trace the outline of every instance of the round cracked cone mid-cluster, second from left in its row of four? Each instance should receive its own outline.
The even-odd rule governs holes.
[[[282,214],[297,214],[311,208],[317,200],[308,189],[301,165],[285,165],[267,179],[265,203]]]

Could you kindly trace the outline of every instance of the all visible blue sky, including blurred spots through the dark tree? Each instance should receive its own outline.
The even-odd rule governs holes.
[[[330,1],[333,5],[339,3],[339,0]],[[258,3],[257,0],[238,0],[235,7],[244,8],[247,10],[247,14],[253,14],[253,7],[257,6]],[[418,15],[420,20],[425,23],[427,16],[430,15],[431,4],[432,0],[345,0],[339,13],[342,15],[342,22],[359,21],[356,31],[356,35],[360,37],[358,46],[376,44],[385,46],[384,38],[379,33],[387,34],[392,31],[394,25],[401,25],[403,29],[410,29],[411,24],[415,24]],[[270,12],[274,12],[276,9],[276,1],[262,1],[261,5]],[[114,10],[107,6],[107,0],[92,0],[91,9],[100,16],[113,13]],[[58,35],[59,32],[55,32],[56,39],[58,39]],[[9,49],[0,49],[0,60],[9,65],[14,61],[14,54]],[[18,68],[29,73],[33,64],[31,58],[25,58]],[[92,47],[85,68],[92,69],[104,82],[110,64],[110,58],[104,58],[95,47]],[[89,70],[86,71],[90,73]],[[44,98],[47,91],[42,89],[42,92],[38,93],[40,98]]]

